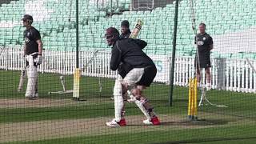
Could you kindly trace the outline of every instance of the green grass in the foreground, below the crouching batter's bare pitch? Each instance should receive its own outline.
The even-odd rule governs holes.
[[[222,128],[186,129],[186,130],[155,130],[152,132],[131,131],[126,134],[104,134],[98,136],[81,136],[73,138],[56,138],[50,140],[18,142],[26,144],[43,143],[190,143],[190,142],[226,142],[236,139],[244,142],[254,142],[256,125],[228,126]],[[225,135],[225,136],[224,136]]]

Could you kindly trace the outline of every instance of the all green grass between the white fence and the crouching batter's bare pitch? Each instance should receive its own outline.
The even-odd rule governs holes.
[[[24,91],[18,93],[16,91],[18,86],[19,71],[5,71],[0,70],[1,91],[0,98],[24,98]],[[44,98],[72,98],[72,94],[48,94],[49,91],[62,90],[59,83],[58,74],[40,74],[39,76],[39,92],[40,97]],[[13,108],[0,109],[0,114],[4,117],[0,118],[0,122],[26,122],[42,119],[58,119],[58,118],[89,118],[97,117],[98,115],[111,114],[114,109],[113,101],[110,101],[112,96],[112,89],[114,81],[108,78],[101,78],[102,93],[99,92],[98,78],[82,77],[81,80],[81,98],[87,99],[85,104],[78,104],[77,106],[62,106],[62,107],[43,107],[43,108]],[[4,84],[6,82],[6,84]],[[66,76],[66,85],[70,90],[72,88],[72,76]],[[25,87],[26,89],[26,87]],[[188,92],[186,87],[174,87],[174,103],[173,107],[167,107],[169,86],[164,84],[154,84],[150,86],[145,94],[150,99],[150,102],[156,107],[156,111],[160,114],[181,114],[186,115]],[[235,93],[223,90],[211,90],[207,92],[207,98],[210,102],[217,104],[225,104],[228,108],[216,108],[214,106],[202,106],[201,111],[210,112],[214,114],[227,114],[238,117],[255,118],[256,111],[255,94]],[[90,102],[93,100],[94,102]],[[82,102],[83,103],[83,102]],[[134,110],[134,105],[128,104],[128,111],[130,114],[138,114]],[[90,111],[96,110],[97,114],[90,114]],[[72,113],[72,114],[70,114]],[[41,114],[49,114],[49,117],[40,118]],[[90,115],[90,116],[81,116]],[[28,115],[28,116],[26,116]]]

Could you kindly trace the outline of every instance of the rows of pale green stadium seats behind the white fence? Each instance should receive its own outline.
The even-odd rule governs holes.
[[[146,50],[146,52],[149,54],[169,54],[171,52],[171,49],[166,47],[172,47],[174,4],[167,4],[165,7],[158,7],[152,11],[129,11],[130,0],[114,1],[114,11],[123,12],[106,18],[106,10],[110,11],[110,1],[100,8],[96,2],[83,0],[78,2],[79,39],[82,39],[79,42],[82,50],[94,47],[96,49],[104,48],[106,43],[99,38],[102,38],[107,27],[115,26],[119,28],[120,22],[127,19],[130,21],[130,29],[133,29],[137,20],[142,19],[144,25],[138,38],[148,42],[147,49],[149,50]],[[243,5],[243,3],[249,2],[250,5],[247,5],[248,7]],[[39,3],[44,6],[44,9],[38,9],[33,12],[35,18],[34,26],[43,35],[42,40],[46,46],[45,48],[50,50],[73,50],[73,48],[64,49],[62,47],[74,46],[75,43],[75,26],[77,24],[75,22],[74,3],[69,0],[63,0],[61,3],[54,0],[46,0]],[[9,4],[2,4],[0,7],[0,22],[19,22],[22,14],[26,12],[26,4],[28,7],[33,7],[37,6],[38,1],[19,0],[12,1]],[[256,26],[256,11],[254,10],[256,2],[249,0],[229,2],[214,0],[196,2],[195,4],[200,7],[200,9],[196,9],[197,25],[199,22],[210,23],[207,27],[207,32],[211,35],[226,34]],[[193,30],[191,29],[190,3],[181,1],[179,6],[177,48],[181,50],[180,54],[187,55],[192,53],[191,49],[193,47],[191,40],[188,39],[194,38]],[[42,14],[45,17],[43,17],[43,21],[40,21]],[[21,28],[20,24],[14,25],[12,29],[0,28],[0,34],[4,36],[4,38],[0,39],[0,43],[14,45],[15,42],[23,42],[23,29]],[[51,48],[52,46],[53,48]],[[58,46],[58,48],[55,46]],[[237,56],[244,58],[245,54]],[[231,55],[226,54],[223,57],[230,58]]]

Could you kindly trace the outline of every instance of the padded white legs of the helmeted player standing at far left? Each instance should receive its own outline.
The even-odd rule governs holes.
[[[26,98],[38,97],[38,66],[36,64],[38,54],[30,54],[26,56],[27,66],[27,86],[26,86]]]

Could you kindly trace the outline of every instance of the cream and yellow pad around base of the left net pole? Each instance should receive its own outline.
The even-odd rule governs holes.
[[[79,98],[80,78],[81,78],[81,70],[79,68],[77,68],[74,70],[73,98]]]

